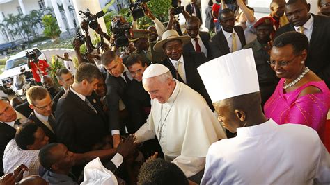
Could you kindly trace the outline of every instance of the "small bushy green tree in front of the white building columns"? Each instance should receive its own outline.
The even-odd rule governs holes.
[[[57,42],[57,38],[61,34],[61,30],[58,27],[56,19],[52,15],[45,15],[42,17],[42,24],[44,25],[44,34],[47,37],[54,39],[54,42]]]

